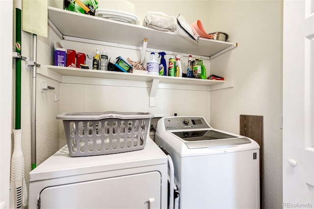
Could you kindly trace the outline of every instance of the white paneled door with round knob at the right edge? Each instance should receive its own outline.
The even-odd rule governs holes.
[[[283,208],[314,208],[314,0],[284,0]]]

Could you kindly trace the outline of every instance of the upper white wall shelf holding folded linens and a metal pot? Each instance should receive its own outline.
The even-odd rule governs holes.
[[[205,38],[200,38],[199,42],[196,42],[173,32],[163,32],[54,7],[48,8],[48,18],[63,37],[78,37],[136,47],[142,47],[146,38],[148,48],[207,56],[209,59],[237,46],[235,43]]]

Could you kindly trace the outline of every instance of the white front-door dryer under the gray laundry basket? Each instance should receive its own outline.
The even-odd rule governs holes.
[[[70,157],[64,146],[29,173],[29,209],[167,208],[167,156],[144,149]]]

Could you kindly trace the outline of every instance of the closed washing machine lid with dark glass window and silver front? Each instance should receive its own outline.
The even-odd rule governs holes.
[[[215,130],[171,131],[180,137],[189,149],[249,144],[251,140]]]

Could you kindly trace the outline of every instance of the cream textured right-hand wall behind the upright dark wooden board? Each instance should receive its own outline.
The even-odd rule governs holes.
[[[239,133],[239,115],[263,116],[263,206],[282,208],[283,1],[210,1],[213,31],[226,31],[238,47],[213,59],[211,73],[235,87],[210,93],[210,124]],[[215,20],[215,17],[219,19]]]

